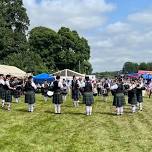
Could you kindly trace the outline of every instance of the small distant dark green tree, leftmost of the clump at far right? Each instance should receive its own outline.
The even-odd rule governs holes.
[[[136,73],[138,71],[138,64],[133,62],[126,62],[123,66],[123,73]]]

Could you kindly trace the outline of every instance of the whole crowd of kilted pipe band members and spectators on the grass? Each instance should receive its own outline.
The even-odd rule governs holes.
[[[4,75],[0,74],[0,98],[3,109],[7,108],[10,111],[12,97],[18,103],[19,97],[24,95],[25,103],[28,104],[28,111],[33,112],[36,90],[37,85],[34,83],[32,76],[23,81],[10,75],[4,77]],[[147,82],[142,78],[129,79],[123,77],[90,80],[88,76],[85,79],[73,76],[72,81],[67,81],[65,79],[61,80],[58,75],[54,82],[44,81],[41,85],[44,101],[46,102],[50,97],[52,98],[56,114],[61,114],[61,105],[66,101],[68,94],[71,94],[74,107],[79,107],[80,97],[83,97],[83,103],[86,105],[86,115],[92,114],[92,104],[95,96],[102,97],[101,99],[106,102],[110,94],[113,96],[113,106],[116,107],[117,115],[124,113],[125,96],[128,96],[131,112],[135,113],[137,110],[143,110],[144,90],[148,90],[151,94],[152,82]]]

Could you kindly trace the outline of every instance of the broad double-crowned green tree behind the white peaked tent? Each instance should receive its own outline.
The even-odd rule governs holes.
[[[78,72],[92,71],[90,47],[76,31],[62,27],[58,33],[46,27],[36,27],[29,33],[30,50],[38,53],[48,69],[71,69]],[[79,71],[79,63],[81,68]]]

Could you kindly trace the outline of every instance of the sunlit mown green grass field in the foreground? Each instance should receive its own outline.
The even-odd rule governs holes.
[[[34,113],[22,101],[11,112],[0,109],[0,152],[151,152],[152,99],[144,110],[132,114],[125,106],[123,116],[114,115],[111,99],[96,98],[93,115],[85,116],[83,104],[68,99],[62,114],[55,115],[50,101],[37,95]]]

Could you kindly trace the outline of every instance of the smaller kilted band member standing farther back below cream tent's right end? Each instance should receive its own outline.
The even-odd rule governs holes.
[[[11,86],[15,88],[15,90],[13,91],[13,96],[15,98],[16,103],[18,103],[19,97],[20,97],[20,86],[19,86],[19,81],[17,77],[14,77],[14,80],[12,81]]]

